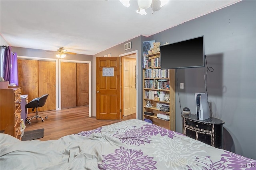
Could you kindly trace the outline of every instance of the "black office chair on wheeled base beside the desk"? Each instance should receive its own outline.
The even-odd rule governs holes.
[[[44,94],[40,98],[35,98],[35,99],[31,100],[28,104],[26,104],[25,108],[33,108],[32,111],[34,111],[34,109],[36,108],[36,115],[35,116],[29,116],[29,117],[31,117],[30,119],[28,119],[29,117],[26,118],[26,122],[28,121],[28,124],[31,124],[30,120],[34,119],[34,118],[37,119],[39,117],[39,118],[42,119],[42,122],[44,121],[42,116],[46,116],[45,117],[46,119],[48,118],[47,115],[38,115],[38,111],[37,111],[37,107],[44,106],[48,96],[49,96],[49,94]]]

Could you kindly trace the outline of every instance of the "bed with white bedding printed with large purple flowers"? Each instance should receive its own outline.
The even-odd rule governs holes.
[[[255,169],[256,160],[217,149],[138,119],[58,140],[20,141],[1,134],[0,169]]]

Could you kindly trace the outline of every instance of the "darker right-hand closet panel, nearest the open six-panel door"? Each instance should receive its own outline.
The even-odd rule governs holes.
[[[89,64],[76,63],[76,106],[89,105]]]

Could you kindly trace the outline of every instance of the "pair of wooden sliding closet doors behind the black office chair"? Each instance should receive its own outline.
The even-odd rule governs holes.
[[[49,94],[46,104],[38,111],[56,109],[55,61],[18,59],[18,81],[22,94],[28,94],[28,102]],[[28,113],[32,113],[32,109],[28,109]]]

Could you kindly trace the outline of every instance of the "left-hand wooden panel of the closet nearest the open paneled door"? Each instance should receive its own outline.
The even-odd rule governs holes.
[[[76,63],[60,63],[61,109],[76,107]]]

